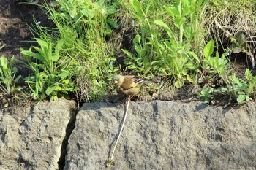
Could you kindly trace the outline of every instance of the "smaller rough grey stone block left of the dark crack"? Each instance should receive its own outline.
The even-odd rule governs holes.
[[[75,101],[44,101],[0,111],[0,169],[58,169]]]

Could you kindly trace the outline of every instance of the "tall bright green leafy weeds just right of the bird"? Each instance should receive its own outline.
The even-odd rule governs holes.
[[[127,69],[138,74],[165,75],[176,88],[195,82],[200,69],[200,50],[206,34],[201,20],[208,1],[131,0],[132,15],[140,29],[133,39],[134,51],[127,54]]]

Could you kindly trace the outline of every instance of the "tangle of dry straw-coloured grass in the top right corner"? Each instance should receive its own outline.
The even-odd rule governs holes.
[[[209,39],[215,39],[217,50],[244,56],[247,65],[255,67],[255,1],[211,0],[204,16]],[[244,54],[244,55],[243,55]]]

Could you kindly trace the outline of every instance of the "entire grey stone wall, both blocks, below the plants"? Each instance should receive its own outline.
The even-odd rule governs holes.
[[[108,167],[126,104],[75,109],[58,100],[0,112],[0,169],[256,169],[255,103],[132,102]]]

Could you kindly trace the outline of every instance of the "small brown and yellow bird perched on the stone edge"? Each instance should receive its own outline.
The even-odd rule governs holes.
[[[113,77],[116,90],[121,91],[127,96],[134,96],[140,92],[140,87],[144,82],[151,82],[152,80],[146,80],[138,76],[122,76],[116,75]]]

